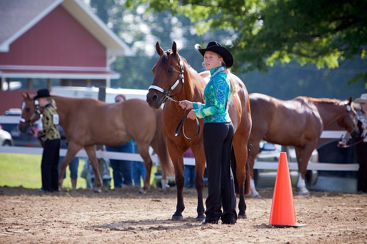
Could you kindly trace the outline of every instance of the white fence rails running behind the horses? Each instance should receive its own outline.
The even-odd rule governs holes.
[[[19,117],[16,116],[0,116],[0,123],[18,123]],[[323,131],[320,138],[339,139],[344,131],[329,130]],[[22,147],[22,146],[0,146],[0,153],[16,153],[16,154],[36,154],[42,155],[41,147]],[[67,149],[60,149],[60,156],[65,156]],[[139,154],[118,153],[98,150],[97,158],[120,159],[131,161],[143,161]],[[87,157],[84,149],[80,150],[77,157]],[[0,155],[1,158],[1,155]],[[159,162],[157,155],[151,155],[153,162]],[[184,158],[185,165],[195,165],[195,159]],[[297,170],[297,163],[288,163],[290,170]],[[256,161],[255,169],[277,169],[278,162],[261,162]],[[336,171],[358,171],[358,163],[309,163],[308,170],[336,170]]]

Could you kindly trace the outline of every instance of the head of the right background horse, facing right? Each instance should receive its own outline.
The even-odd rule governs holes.
[[[348,102],[345,102],[345,114],[338,120],[339,126],[345,128],[352,138],[359,136],[358,122],[356,120],[357,113],[352,106],[352,97],[349,98]]]

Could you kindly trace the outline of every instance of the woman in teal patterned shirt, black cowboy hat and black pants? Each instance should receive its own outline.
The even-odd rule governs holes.
[[[196,48],[204,57],[206,69],[210,71],[210,79],[204,90],[206,103],[184,100],[179,104],[183,109],[192,109],[187,118],[204,118],[203,143],[208,172],[208,197],[206,218],[202,224],[218,224],[219,219],[222,224],[235,224],[236,195],[230,168],[234,129],[227,106],[230,95],[235,93],[235,87],[229,79],[233,57],[217,41],[209,41],[206,48],[199,45]]]

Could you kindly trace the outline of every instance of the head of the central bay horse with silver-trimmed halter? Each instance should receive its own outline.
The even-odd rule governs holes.
[[[184,86],[184,64],[177,52],[176,42],[173,42],[171,49],[164,51],[157,41],[156,51],[160,58],[152,69],[154,78],[146,96],[152,108],[160,108],[167,98],[174,96],[170,93],[176,87],[182,89]]]

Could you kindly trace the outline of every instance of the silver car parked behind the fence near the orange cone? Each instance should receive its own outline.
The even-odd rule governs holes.
[[[275,162],[279,161],[280,152],[286,151],[288,157],[288,163],[297,163],[296,151],[294,147],[288,146],[283,148],[281,145],[260,142],[260,152],[257,154],[256,161],[261,162]],[[309,162],[319,163],[319,154],[315,149],[312,152]],[[291,183],[293,186],[298,182],[298,170],[290,170]],[[315,185],[319,176],[317,170],[307,170],[306,173],[306,186]],[[253,172],[253,180],[256,187],[274,187],[276,178],[276,170],[270,169],[255,169]]]

